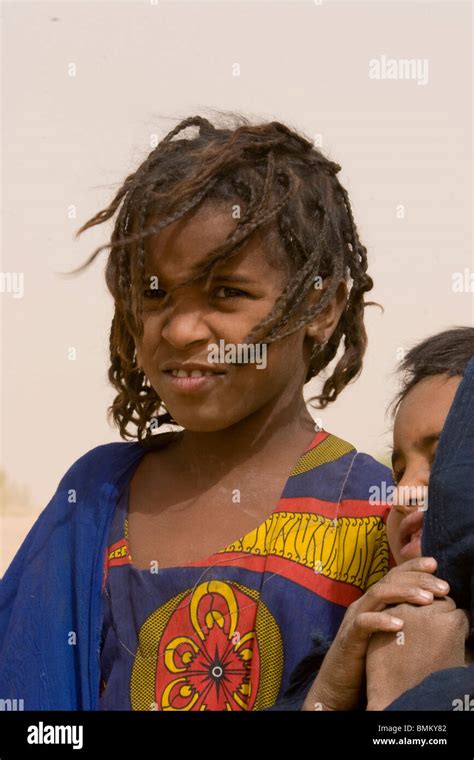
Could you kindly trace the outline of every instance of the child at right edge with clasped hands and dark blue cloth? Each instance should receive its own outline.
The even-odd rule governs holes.
[[[403,384],[394,402],[396,413],[393,432],[393,473],[398,486],[396,499],[387,519],[387,535],[391,552],[398,567],[385,577],[398,575],[398,571],[410,570],[413,563],[424,562],[427,567],[438,570],[438,575],[449,581],[450,596],[459,607],[472,605],[472,567],[474,522],[472,519],[472,430],[474,382],[474,328],[460,327],[434,335],[412,348],[401,365]],[[462,383],[462,388],[460,388]],[[456,399],[457,405],[454,405]],[[452,413],[450,410],[452,408]],[[447,424],[450,414],[450,425]],[[442,431],[444,449],[442,462],[446,471],[446,453],[450,451],[450,468],[459,484],[458,493],[450,499],[446,516],[438,505],[439,492],[446,490],[446,482],[452,475],[442,474],[439,458],[435,460]],[[471,432],[469,432],[471,431]],[[469,438],[470,436],[470,438]],[[461,438],[463,446],[461,447]],[[471,444],[469,441],[471,440]],[[449,448],[451,447],[451,448]],[[436,461],[437,467],[432,465]],[[464,468],[467,480],[461,480]],[[442,481],[440,487],[439,481]],[[432,512],[428,506],[428,482],[430,488],[438,488],[434,494]],[[437,486],[433,485],[437,483]],[[428,509],[428,511],[426,511]],[[424,540],[426,550],[436,557],[422,556],[422,528],[428,515],[429,535]],[[390,614],[400,615],[406,632],[403,647],[397,647],[390,633],[379,633],[370,638],[367,610],[376,592],[372,589],[348,609],[335,641],[324,662],[324,650],[315,648],[305,662],[295,670],[292,685],[285,699],[276,709],[298,709],[307,692],[303,710],[344,710],[357,706],[367,709],[384,709],[403,691],[415,686],[428,674],[447,668],[457,668],[473,662],[472,646],[465,647],[467,635],[466,616],[456,609],[452,599],[443,605],[427,605],[407,608],[392,607]],[[474,588],[474,586],[472,586]],[[414,600],[409,600],[414,601]],[[372,607],[375,605],[372,604]],[[408,610],[408,615],[407,615]],[[438,612],[441,617],[433,617]],[[372,614],[370,612],[369,614]],[[376,612],[376,614],[380,614]],[[387,613],[382,613],[387,614]],[[419,622],[418,622],[419,621]],[[439,626],[441,626],[439,628]],[[439,631],[439,633],[438,633]],[[424,645],[423,636],[428,635]],[[437,648],[437,636],[439,646]],[[471,640],[472,641],[472,640]],[[415,642],[415,643],[414,643]],[[470,643],[470,642],[468,642]],[[418,644],[418,646],[415,646]],[[414,649],[411,647],[414,646]],[[359,701],[362,680],[366,669],[367,697]],[[398,662],[397,658],[402,658]],[[318,676],[314,679],[316,670]],[[393,709],[452,709],[453,687],[470,679],[474,686],[474,669],[453,670],[452,682],[448,678],[433,681],[411,698],[402,698]],[[306,679],[306,686],[305,686]],[[308,681],[311,688],[308,690]],[[436,683],[446,687],[446,693],[436,689]],[[339,690],[334,686],[339,684]],[[426,701],[427,693],[430,701]],[[365,693],[365,690],[364,690]]]

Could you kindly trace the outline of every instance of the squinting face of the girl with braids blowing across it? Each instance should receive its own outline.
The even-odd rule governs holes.
[[[313,340],[329,338],[346,302],[342,286],[323,314],[266,346],[266,355],[265,346],[257,345],[247,363],[226,360],[226,351],[243,343],[272,310],[287,282],[286,271],[268,260],[260,239],[255,236],[221,262],[207,287],[203,278],[169,295],[167,291],[188,279],[192,265],[222,244],[235,225],[229,212],[204,206],[148,239],[146,274],[157,281],[144,293],[144,334],[137,361],[167,410],[187,430],[222,430],[257,411],[291,409],[295,398],[300,404]],[[320,295],[315,290],[311,298]],[[223,353],[210,356],[212,345],[222,346]],[[180,368],[189,373],[193,366],[195,372],[210,374],[172,374]]]

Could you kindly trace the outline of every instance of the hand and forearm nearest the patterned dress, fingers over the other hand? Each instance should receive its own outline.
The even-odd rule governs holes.
[[[404,562],[348,607],[302,710],[354,710],[358,706],[371,634],[403,629],[403,620],[386,610],[389,605],[429,605],[435,597],[447,596],[449,585],[431,575],[436,567],[433,557]]]

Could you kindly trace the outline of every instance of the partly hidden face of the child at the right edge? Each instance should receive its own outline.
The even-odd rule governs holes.
[[[397,564],[421,557],[423,501],[438,440],[461,376],[434,375],[417,383],[399,406],[393,429],[392,466],[398,489],[387,520]]]

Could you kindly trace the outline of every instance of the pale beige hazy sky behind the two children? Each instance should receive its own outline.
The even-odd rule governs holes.
[[[70,465],[120,440],[106,420],[107,253],[75,279],[57,274],[107,242],[113,221],[74,233],[109,204],[152,135],[212,108],[321,134],[342,166],[375,281],[368,299],[385,313],[366,311],[361,377],[313,414],[382,456],[398,352],[473,323],[473,294],[452,290],[454,273],[474,271],[471,3],[61,0],[4,2],[2,16],[1,271],[24,274],[24,295],[0,293],[11,483],[0,574]],[[370,79],[369,61],[384,55],[426,59],[427,84]]]

